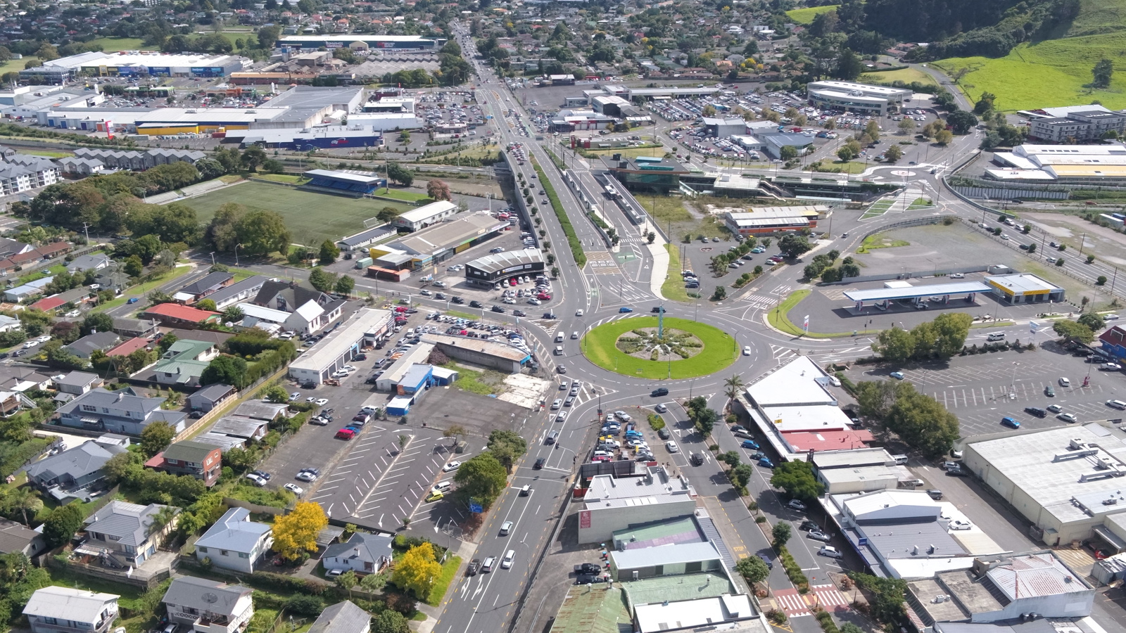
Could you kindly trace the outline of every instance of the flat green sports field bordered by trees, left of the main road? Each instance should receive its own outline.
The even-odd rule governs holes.
[[[196,209],[200,222],[209,222],[215,211],[226,203],[278,212],[293,233],[294,242],[302,244],[319,244],[325,239],[339,240],[358,233],[364,230],[364,221],[375,217],[384,207],[399,212],[413,208],[387,200],[346,198],[265,182],[243,182],[182,200]]]

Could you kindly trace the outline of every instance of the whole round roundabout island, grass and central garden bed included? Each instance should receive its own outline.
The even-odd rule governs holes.
[[[656,337],[656,316],[631,316],[592,328],[582,337],[582,354],[604,369],[627,376],[662,380],[705,376],[739,357],[735,339],[712,326],[664,318],[664,337]]]

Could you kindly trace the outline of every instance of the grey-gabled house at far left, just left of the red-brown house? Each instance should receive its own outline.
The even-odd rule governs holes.
[[[90,493],[105,484],[106,473],[101,467],[110,457],[125,451],[123,446],[88,439],[28,466],[27,481],[59,501],[89,501]]]

